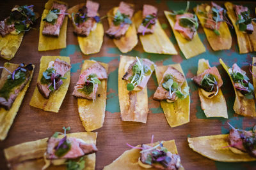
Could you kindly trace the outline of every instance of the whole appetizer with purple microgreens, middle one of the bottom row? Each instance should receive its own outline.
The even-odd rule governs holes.
[[[161,141],[158,143],[141,144],[131,146],[111,164],[104,167],[108,169],[164,169],[181,170],[180,156],[175,141]]]

